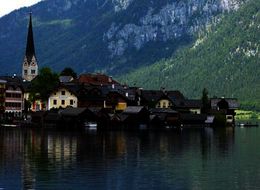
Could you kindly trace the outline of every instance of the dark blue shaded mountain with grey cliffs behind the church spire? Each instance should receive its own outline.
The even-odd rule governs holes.
[[[122,74],[169,58],[243,0],[45,0],[0,18],[0,74],[21,73],[28,13],[40,67]]]

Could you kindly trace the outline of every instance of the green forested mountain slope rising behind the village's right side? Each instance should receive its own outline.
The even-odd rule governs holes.
[[[260,110],[259,10],[260,1],[249,1],[171,58],[121,80],[144,88],[179,89],[196,98],[207,88],[211,97],[237,97],[243,108]]]

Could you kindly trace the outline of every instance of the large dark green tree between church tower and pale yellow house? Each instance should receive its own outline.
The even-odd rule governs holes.
[[[39,75],[32,81],[30,100],[37,98],[46,101],[50,93],[59,85],[59,76],[50,68],[40,69]]]

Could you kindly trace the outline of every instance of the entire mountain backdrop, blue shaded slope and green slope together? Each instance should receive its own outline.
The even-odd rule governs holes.
[[[0,18],[0,75],[21,73],[29,12],[40,67],[260,109],[259,1],[44,0]]]

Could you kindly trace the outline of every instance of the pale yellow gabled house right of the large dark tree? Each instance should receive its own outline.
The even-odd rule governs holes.
[[[61,85],[54,90],[48,98],[48,110],[53,108],[78,107],[78,97],[72,87]]]

